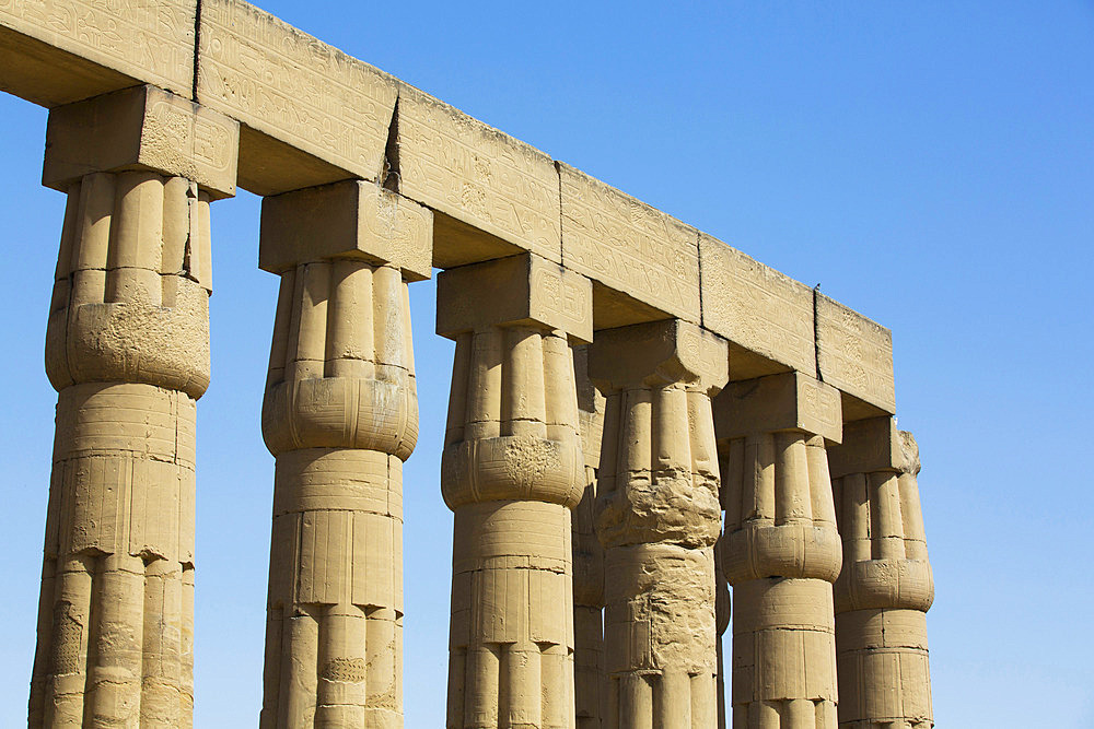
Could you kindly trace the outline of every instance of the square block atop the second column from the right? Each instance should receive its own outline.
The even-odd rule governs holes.
[[[730,383],[714,398],[714,436],[721,440],[776,431],[841,438],[839,390],[796,372]]]

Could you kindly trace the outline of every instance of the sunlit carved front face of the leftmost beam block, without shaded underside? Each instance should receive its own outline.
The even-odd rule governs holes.
[[[0,0],[0,27],[189,96],[196,0]]]

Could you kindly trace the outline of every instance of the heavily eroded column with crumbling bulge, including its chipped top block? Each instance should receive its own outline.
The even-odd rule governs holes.
[[[596,332],[607,397],[597,493],[610,729],[717,726],[720,531],[710,397],[726,343],[679,320]]]

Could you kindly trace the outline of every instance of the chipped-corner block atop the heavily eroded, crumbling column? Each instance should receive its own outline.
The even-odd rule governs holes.
[[[717,390],[729,377],[729,353],[724,339],[680,319],[601,329],[589,376],[604,390],[679,381]]]

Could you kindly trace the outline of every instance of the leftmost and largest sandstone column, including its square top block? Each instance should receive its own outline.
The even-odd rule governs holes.
[[[46,332],[58,391],[31,727],[189,727],[196,401],[209,202],[235,121],[151,86],[55,108],[68,193]]]

